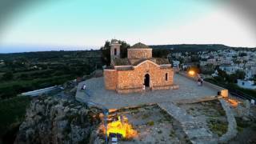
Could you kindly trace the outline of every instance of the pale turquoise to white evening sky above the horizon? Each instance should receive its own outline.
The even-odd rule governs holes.
[[[46,0],[27,3],[0,27],[0,53],[130,45],[256,47],[249,18],[218,0]]]

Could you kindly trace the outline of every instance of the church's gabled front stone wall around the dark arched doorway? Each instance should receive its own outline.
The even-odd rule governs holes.
[[[134,66],[134,70],[122,70],[117,71],[117,73],[117,91],[119,93],[142,91],[146,74],[150,74],[151,90],[170,89],[170,86],[174,83],[174,70],[172,68],[161,69],[158,65],[150,61]]]

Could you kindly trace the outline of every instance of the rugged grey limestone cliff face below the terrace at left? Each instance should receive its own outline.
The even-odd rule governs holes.
[[[46,96],[34,99],[14,143],[90,143],[100,112],[73,100]]]

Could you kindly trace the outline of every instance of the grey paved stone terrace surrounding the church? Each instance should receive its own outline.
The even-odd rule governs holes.
[[[178,90],[155,90],[133,94],[117,94],[114,90],[106,90],[103,80],[103,77],[101,77],[80,82],[76,98],[82,101],[96,102],[109,109],[118,109],[149,103],[178,102],[194,98],[214,97],[218,93],[216,89],[208,86],[198,86],[197,82],[180,74],[174,74],[174,83],[179,86]],[[86,84],[86,91],[81,90],[83,84]]]

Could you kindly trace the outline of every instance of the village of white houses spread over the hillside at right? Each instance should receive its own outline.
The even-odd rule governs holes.
[[[218,70],[222,70],[228,75],[242,73],[243,78],[236,82],[238,86],[245,89],[256,89],[254,84],[256,80],[256,53],[253,49],[204,50],[198,51],[196,54],[174,53],[170,54],[170,57],[174,58],[174,67],[184,69],[198,66],[202,74],[207,74],[213,78],[219,76]],[[191,60],[193,57],[197,57],[195,62]]]

